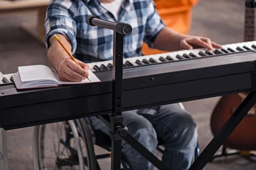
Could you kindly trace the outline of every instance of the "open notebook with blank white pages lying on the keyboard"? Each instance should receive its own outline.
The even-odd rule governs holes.
[[[100,82],[98,77],[89,72],[89,79],[81,82],[61,81],[58,73],[46,65],[29,65],[18,67],[17,73],[13,74],[13,81],[17,89],[60,87],[62,85],[77,85]],[[91,82],[90,82],[91,81]]]

